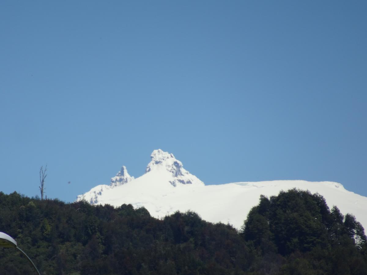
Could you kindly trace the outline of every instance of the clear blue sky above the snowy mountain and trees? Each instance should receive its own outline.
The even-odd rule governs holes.
[[[367,196],[366,27],[366,1],[3,0],[0,190],[48,164],[73,201],[161,148],[206,184]]]

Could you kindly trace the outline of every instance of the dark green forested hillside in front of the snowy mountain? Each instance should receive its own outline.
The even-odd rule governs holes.
[[[296,189],[261,196],[244,213],[240,231],[190,211],[155,219],[131,205],[0,192],[0,231],[42,275],[367,274],[361,224],[335,206],[330,210],[319,194]],[[12,248],[0,248],[0,273],[35,274]]]

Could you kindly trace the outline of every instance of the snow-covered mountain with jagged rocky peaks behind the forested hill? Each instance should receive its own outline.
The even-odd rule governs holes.
[[[176,210],[193,210],[207,221],[230,223],[240,228],[260,195],[277,195],[281,190],[299,188],[318,192],[331,208],[337,205],[343,214],[352,213],[367,228],[367,197],[346,190],[331,181],[274,180],[204,185],[190,174],[174,155],[154,150],[145,174],[134,179],[125,166],[110,185],[98,185],[83,195],[92,204],[120,206],[131,203],[135,208],[144,206],[152,216],[164,217]]]

